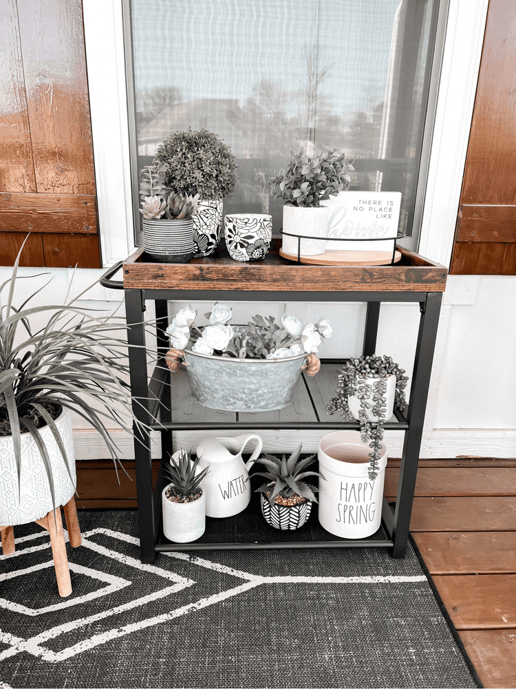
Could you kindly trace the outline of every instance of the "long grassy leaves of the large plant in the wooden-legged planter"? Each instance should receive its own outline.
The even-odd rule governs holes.
[[[15,307],[12,302],[17,281],[45,275],[17,277],[22,250],[23,246],[10,279],[0,286],[0,293],[7,293],[0,309],[0,434],[12,437],[20,491],[21,435],[30,433],[45,466],[55,509],[52,469],[41,427],[50,427],[71,477],[63,439],[54,422],[61,408],[92,424],[107,444],[115,467],[118,449],[105,422],[111,420],[128,433],[132,430],[125,417],[132,418],[136,426],[141,424],[132,413],[130,387],[123,378],[127,373],[127,342],[112,335],[116,331],[125,335],[123,317],[98,316],[96,310],[75,306],[81,295],[74,299],[66,295],[61,305],[30,306],[50,280]],[[33,330],[31,317],[44,317],[44,325]]]

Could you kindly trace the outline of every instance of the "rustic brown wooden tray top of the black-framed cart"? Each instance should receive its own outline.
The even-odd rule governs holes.
[[[138,249],[123,263],[123,286],[137,290],[263,290],[274,292],[441,293],[445,266],[398,247],[398,264],[389,266],[312,266],[284,259],[280,241],[260,262],[231,259],[223,242],[211,256],[189,264],[158,264]]]

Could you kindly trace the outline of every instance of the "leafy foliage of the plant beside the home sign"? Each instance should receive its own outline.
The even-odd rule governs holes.
[[[338,155],[335,151],[332,148],[311,158],[302,149],[291,151],[288,168],[282,168],[270,179],[263,173],[260,176],[264,192],[292,206],[320,206],[321,201],[349,189],[349,172],[355,170],[343,153]]]

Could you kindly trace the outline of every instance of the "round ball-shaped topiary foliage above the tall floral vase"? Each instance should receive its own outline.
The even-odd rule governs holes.
[[[225,199],[236,185],[235,157],[208,130],[174,132],[158,146],[152,164],[165,170],[165,184],[203,201]]]

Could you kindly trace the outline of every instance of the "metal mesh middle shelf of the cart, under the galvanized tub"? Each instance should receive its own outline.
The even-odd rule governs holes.
[[[269,412],[228,412],[213,410],[200,405],[192,395],[185,367],[174,373],[168,370],[165,360],[159,359],[149,382],[149,392],[154,399],[151,415],[156,422],[154,430],[172,428],[184,430],[216,428],[328,428],[360,429],[360,422],[353,417],[344,418],[340,412],[330,415],[326,406],[336,394],[338,372],[344,360],[322,360],[320,371],[309,377],[305,372],[293,394],[293,402],[281,409]],[[395,409],[393,417],[384,423],[386,429],[408,429],[404,412]]]

